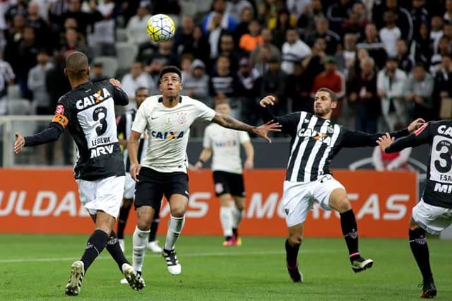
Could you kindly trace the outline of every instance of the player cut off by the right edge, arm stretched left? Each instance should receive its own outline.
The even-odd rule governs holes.
[[[377,143],[385,153],[395,153],[424,143],[430,145],[427,185],[420,201],[412,208],[408,235],[411,252],[422,273],[421,297],[433,298],[436,286],[425,232],[438,235],[452,224],[452,120],[428,122],[410,136],[396,141],[386,134]]]

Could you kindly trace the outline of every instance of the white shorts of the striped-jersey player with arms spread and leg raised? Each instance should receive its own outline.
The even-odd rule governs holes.
[[[287,227],[304,223],[314,201],[323,210],[331,210],[328,205],[330,194],[338,188],[345,190],[343,184],[331,175],[324,175],[314,182],[284,181],[282,203]]]

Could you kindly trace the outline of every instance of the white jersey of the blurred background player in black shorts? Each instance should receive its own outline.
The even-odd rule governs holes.
[[[246,131],[209,124],[204,131],[203,147],[213,151],[212,170],[241,174],[240,145],[245,141],[249,141]]]

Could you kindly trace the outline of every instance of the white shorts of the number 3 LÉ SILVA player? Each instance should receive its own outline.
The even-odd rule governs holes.
[[[80,201],[91,215],[98,210],[117,218],[124,194],[125,177],[107,177],[97,181],[78,179]]]

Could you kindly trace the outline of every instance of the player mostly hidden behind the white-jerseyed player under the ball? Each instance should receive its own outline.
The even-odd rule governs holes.
[[[140,107],[143,100],[148,98],[150,95],[150,91],[145,87],[138,87],[135,90],[135,102],[136,108]],[[126,114],[122,114],[118,117],[118,137],[119,144],[124,146],[124,165],[126,166],[126,185],[124,187],[124,198],[122,200],[121,209],[119,210],[118,217],[118,240],[121,249],[124,251],[125,242],[124,242],[124,229],[126,228],[127,218],[129,218],[129,211],[132,206],[133,194],[135,192],[135,181],[130,176],[130,160],[129,160],[129,151],[127,151],[127,138],[130,136],[130,131],[132,129],[132,123],[136,116],[136,110],[132,110],[131,112],[126,112]],[[141,161],[145,155],[145,149],[148,147],[148,139],[145,135],[141,136],[140,142],[138,143],[138,161]],[[150,225],[150,232],[148,237],[148,249],[154,253],[162,252],[162,248],[159,247],[157,240],[155,240],[155,236],[157,234],[159,223],[159,214],[155,213],[155,217],[153,222]],[[124,279],[123,279],[124,280]],[[122,281],[122,283],[126,283]]]

